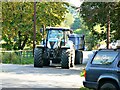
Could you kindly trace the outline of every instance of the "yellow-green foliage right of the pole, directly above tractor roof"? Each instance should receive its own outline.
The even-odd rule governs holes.
[[[37,23],[39,25],[55,26],[65,19],[67,3],[42,2],[37,3]]]

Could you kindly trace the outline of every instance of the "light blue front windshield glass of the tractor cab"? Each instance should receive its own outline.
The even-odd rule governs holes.
[[[49,30],[48,31],[48,38],[63,38],[63,31],[62,30]]]

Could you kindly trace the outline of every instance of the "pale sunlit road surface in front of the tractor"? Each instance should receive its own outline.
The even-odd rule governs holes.
[[[84,65],[70,69],[60,67],[34,68],[33,65],[2,64],[2,88],[80,88]]]

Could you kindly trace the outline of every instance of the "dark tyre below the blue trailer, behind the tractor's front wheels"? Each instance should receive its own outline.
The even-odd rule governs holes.
[[[78,50],[75,51],[75,64],[82,64],[83,62],[83,52]]]

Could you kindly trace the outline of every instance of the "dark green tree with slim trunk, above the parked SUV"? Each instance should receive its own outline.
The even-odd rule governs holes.
[[[93,27],[97,24],[107,28],[107,48],[110,42],[110,32],[114,31],[114,34],[119,32],[119,22],[117,20],[120,14],[119,3],[120,2],[84,2],[81,6],[80,14],[93,33],[95,32]],[[120,36],[116,35],[113,38],[120,38]]]

